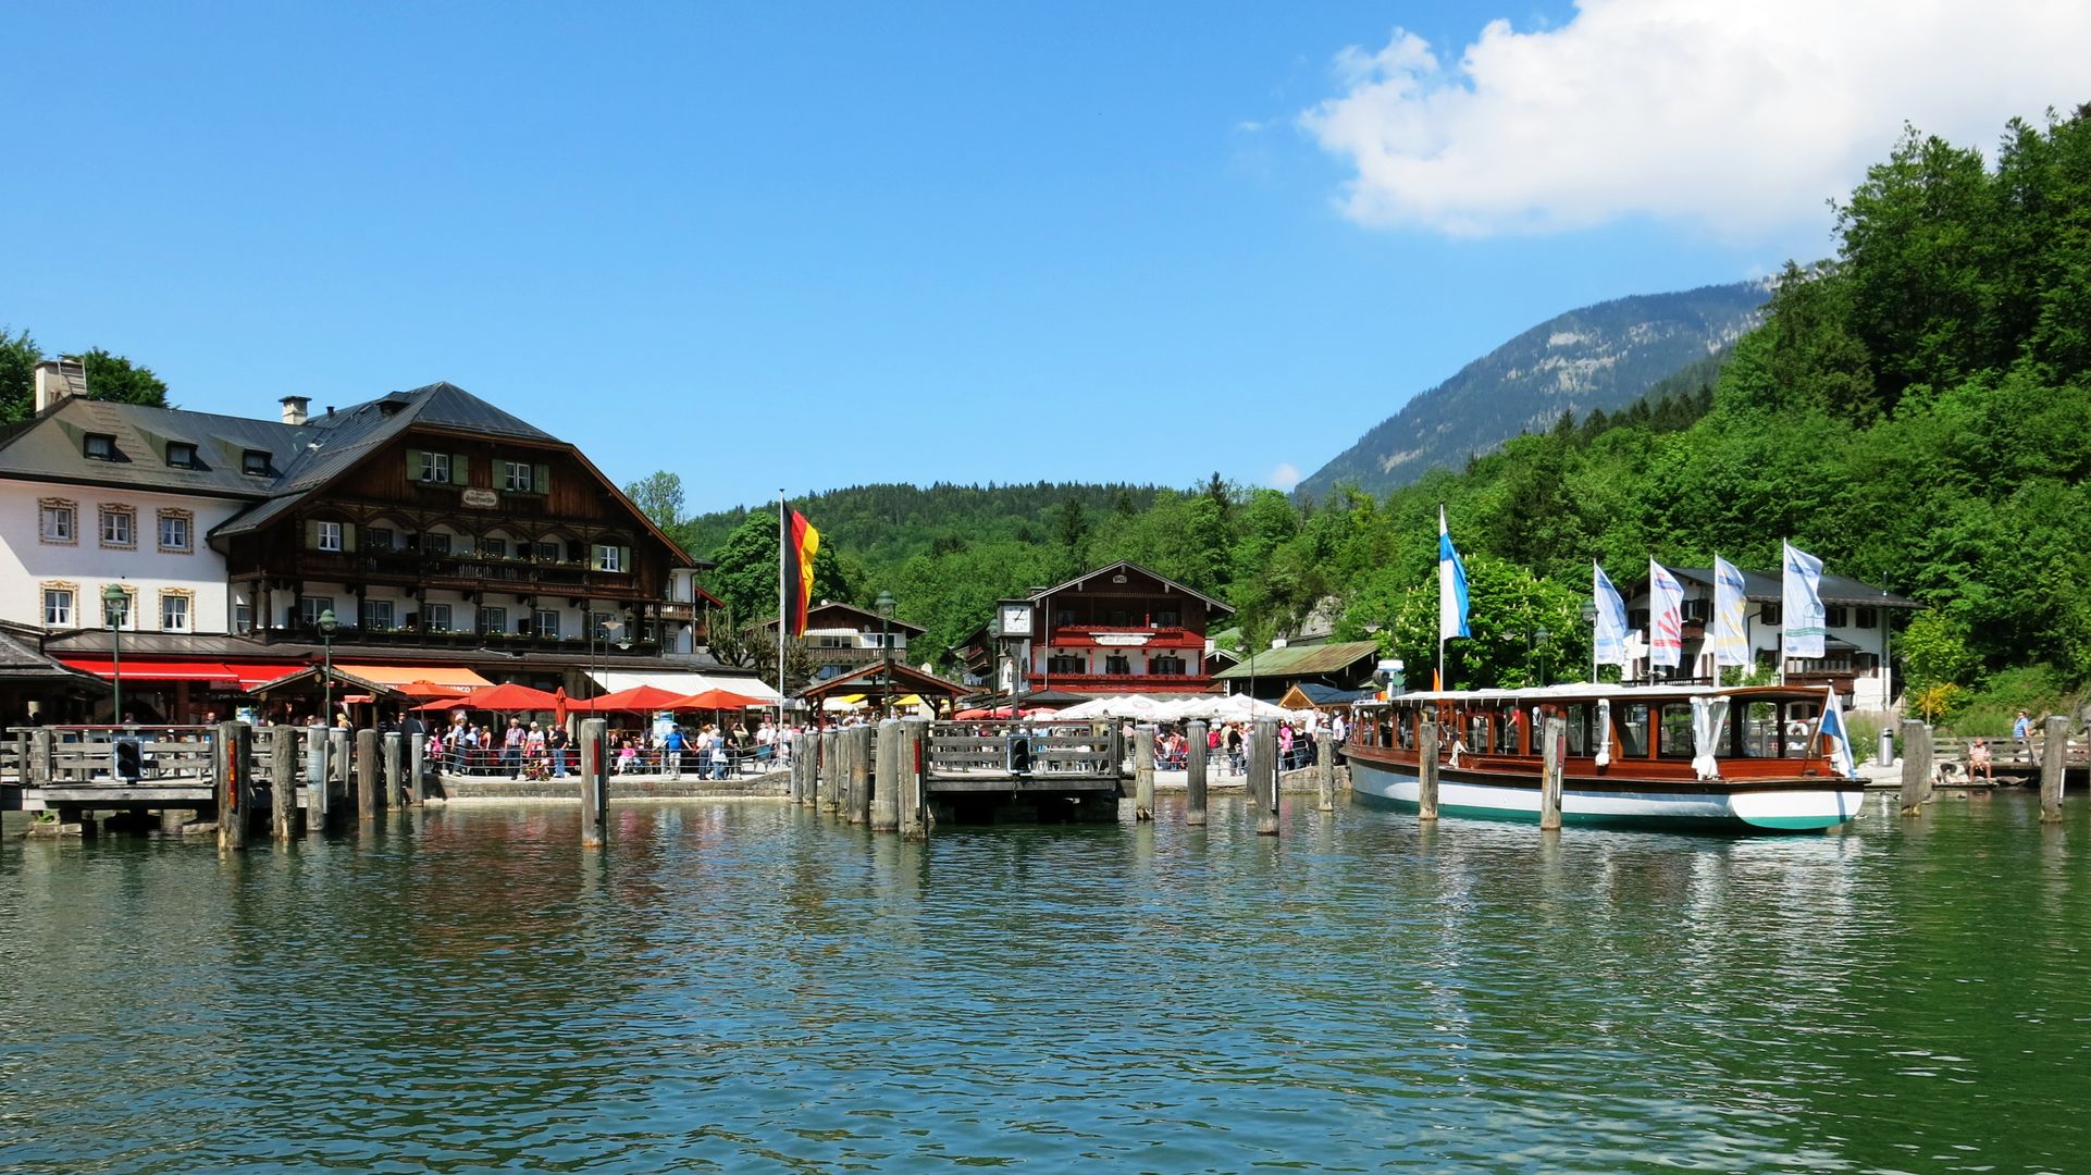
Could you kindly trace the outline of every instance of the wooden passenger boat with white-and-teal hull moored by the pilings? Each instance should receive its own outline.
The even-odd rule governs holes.
[[[1416,811],[1418,744],[1437,723],[1441,815],[1539,820],[1543,723],[1558,717],[1562,824],[1805,832],[1857,817],[1865,799],[1838,774],[1828,705],[1802,686],[1418,692],[1361,702],[1345,757],[1357,799]]]

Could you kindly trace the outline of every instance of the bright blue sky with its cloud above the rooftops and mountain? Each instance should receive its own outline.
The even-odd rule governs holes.
[[[1853,102],[1811,171],[1790,94],[1725,174],[1719,92],[1669,132],[1547,73],[1727,48],[1650,4],[15,6],[0,326],[213,412],[447,378],[692,510],[1284,481],[1545,316],[1830,251],[1922,111]]]

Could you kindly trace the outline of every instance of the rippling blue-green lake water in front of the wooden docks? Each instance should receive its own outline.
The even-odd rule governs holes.
[[[2091,1167],[2091,809],[0,847],[0,1169]]]

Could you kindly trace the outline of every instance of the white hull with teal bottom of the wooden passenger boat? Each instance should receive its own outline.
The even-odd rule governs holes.
[[[1351,757],[1351,794],[1393,807],[1418,809],[1422,790],[1414,767]],[[1562,786],[1562,824],[1612,828],[1669,828],[1702,832],[1819,832],[1859,815],[1865,792],[1848,788],[1664,790],[1662,784]],[[1537,782],[1487,782],[1447,771],[1439,780],[1439,813],[1480,820],[1539,820]]]

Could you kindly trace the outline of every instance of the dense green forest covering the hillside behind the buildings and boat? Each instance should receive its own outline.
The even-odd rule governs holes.
[[[1832,259],[1786,268],[1761,328],[1635,408],[1564,416],[1384,498],[1215,477],[799,506],[843,548],[828,585],[893,592],[933,656],[997,596],[1135,558],[1234,602],[1246,640],[1319,610],[1428,665],[1445,504],[1472,579],[1457,682],[1520,682],[1539,627],[1556,675],[1587,667],[1591,558],[1618,581],[1650,556],[1773,569],[1792,539],[1924,604],[1897,656],[1949,711],[1982,690],[2060,696],[2091,679],[2091,109],[2009,123],[1993,165],[1907,132],[1836,205],[1836,238]],[[703,539],[734,523],[700,521],[694,550],[723,550]]]

